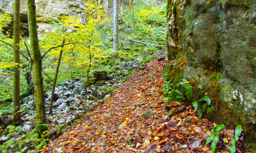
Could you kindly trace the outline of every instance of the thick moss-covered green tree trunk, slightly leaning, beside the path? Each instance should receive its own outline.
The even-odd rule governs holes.
[[[39,49],[38,36],[37,36],[37,23],[35,16],[35,0],[27,0],[27,15],[29,23],[29,38],[32,53],[32,70],[34,79],[34,92],[35,92],[35,108],[37,111],[37,126],[36,133],[38,137],[48,128],[46,124],[46,111],[45,111],[45,98],[44,98],[44,83],[42,77],[42,56]]]

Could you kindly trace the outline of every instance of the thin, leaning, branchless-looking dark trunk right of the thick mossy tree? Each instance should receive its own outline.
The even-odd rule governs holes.
[[[64,45],[64,43],[65,43],[65,39],[63,39],[63,41],[62,41],[62,45]],[[59,73],[60,61],[61,61],[61,56],[62,56],[62,52],[63,52],[63,50],[62,50],[63,47],[64,46],[61,46],[61,49],[60,49],[58,64],[57,64],[57,68],[56,68],[56,72],[55,72],[55,76],[54,76],[54,80],[53,80],[52,94],[51,94],[50,107],[49,107],[49,115],[52,114],[52,103],[53,103],[53,97],[54,97],[54,89],[55,89],[55,85],[56,85],[57,77],[58,77],[58,73]]]

